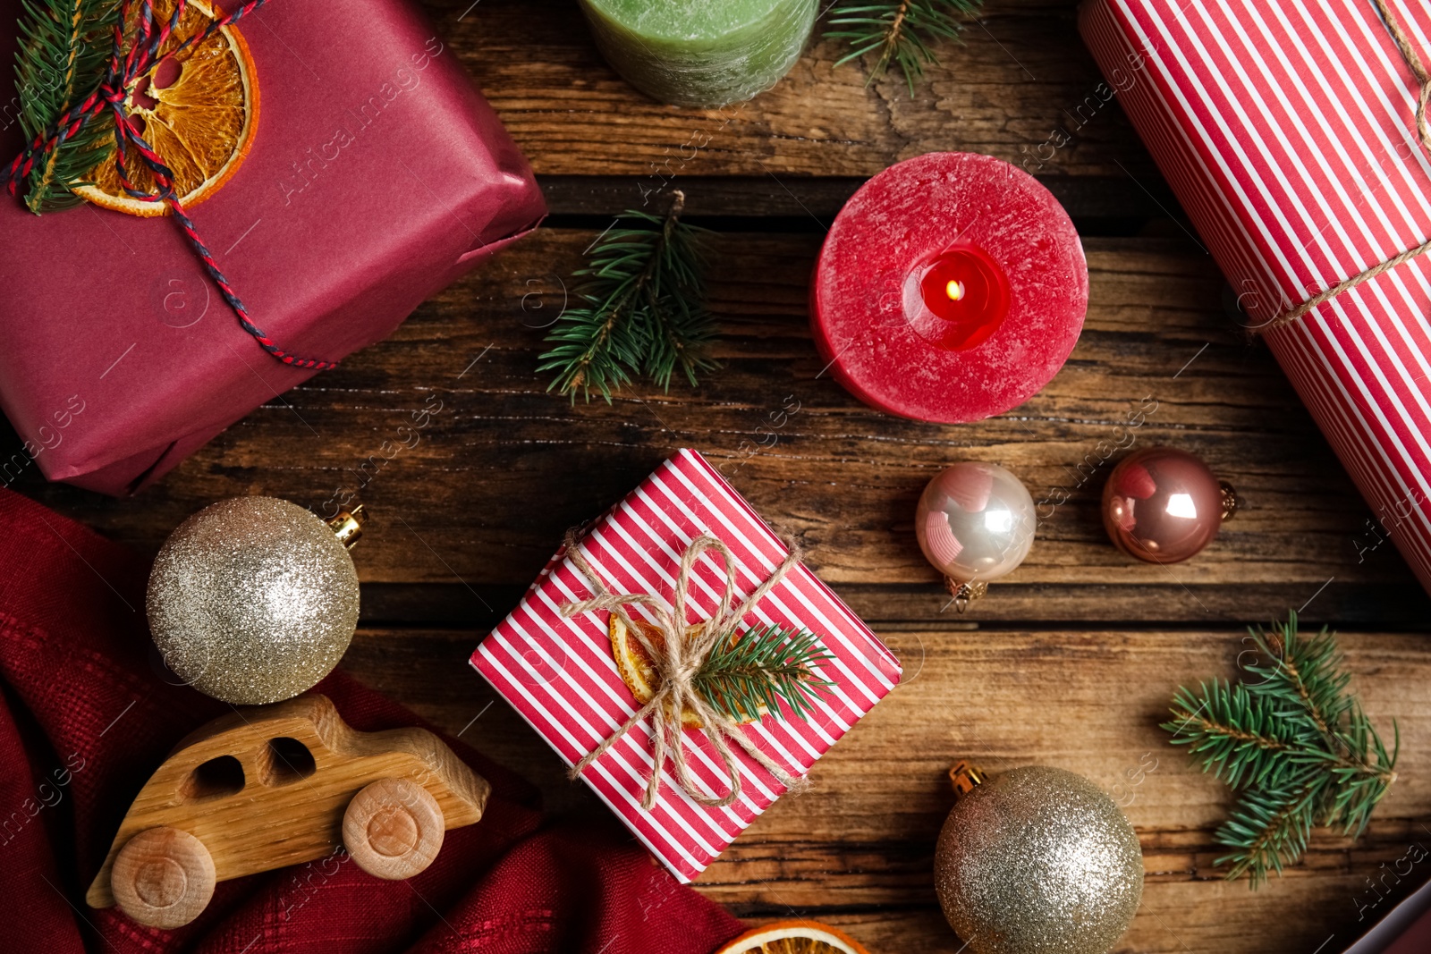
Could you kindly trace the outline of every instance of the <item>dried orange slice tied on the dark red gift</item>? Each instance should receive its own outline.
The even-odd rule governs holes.
[[[173,14],[173,0],[156,0],[162,20]],[[175,193],[193,206],[229,180],[253,142],[259,124],[259,87],[243,36],[236,27],[216,30],[203,43],[167,56],[213,21],[213,9],[189,0],[173,36],[160,47],[155,67],[129,90],[124,106],[145,137],[175,173]],[[153,192],[143,160],[127,150],[124,167],[136,189]],[[113,150],[84,176],[74,195],[96,206],[135,216],[169,215],[162,202],[142,202],[124,193]]]

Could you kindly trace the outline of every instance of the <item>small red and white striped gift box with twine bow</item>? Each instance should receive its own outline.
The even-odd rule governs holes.
[[[764,582],[787,555],[786,545],[695,451],[681,451],[592,525],[577,546],[612,592],[670,598],[681,555],[701,533],[723,541],[736,556],[736,602]],[[693,572],[691,622],[720,605],[724,572],[704,554]],[[472,654],[472,665],[532,728],[567,759],[581,761],[635,712],[617,674],[605,612],[562,618],[564,604],[591,595],[585,578],[558,552],[521,605]],[[630,606],[641,616],[644,608]],[[650,615],[645,616],[650,619]],[[894,655],[804,565],[797,564],[744,618],[746,625],[803,626],[831,657],[817,667],[833,682],[809,719],[766,717],[747,737],[793,775],[817,758],[899,682]],[[704,794],[727,784],[714,749],[698,731],[685,732],[688,764]],[[784,791],[737,752],[741,795],[728,808],[705,808],[663,772],[651,811],[641,808],[651,771],[650,725],[638,724],[582,774],[633,832],[678,878],[690,881]]]

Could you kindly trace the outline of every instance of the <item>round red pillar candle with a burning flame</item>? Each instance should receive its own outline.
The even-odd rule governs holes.
[[[929,153],[846,203],[810,290],[816,346],[844,388],[903,418],[982,421],[1068,359],[1088,263],[1068,213],[1022,169]]]

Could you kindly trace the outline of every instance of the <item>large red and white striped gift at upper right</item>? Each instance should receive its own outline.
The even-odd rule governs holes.
[[[1388,0],[1422,62],[1431,7]],[[1431,236],[1420,84],[1372,0],[1089,0],[1083,39],[1256,328]],[[1431,255],[1265,335],[1431,589]]]

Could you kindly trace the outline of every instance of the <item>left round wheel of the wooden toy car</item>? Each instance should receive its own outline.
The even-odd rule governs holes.
[[[176,928],[199,917],[218,877],[203,842],[179,828],[140,831],[114,855],[110,884],[124,914],[147,927]]]

